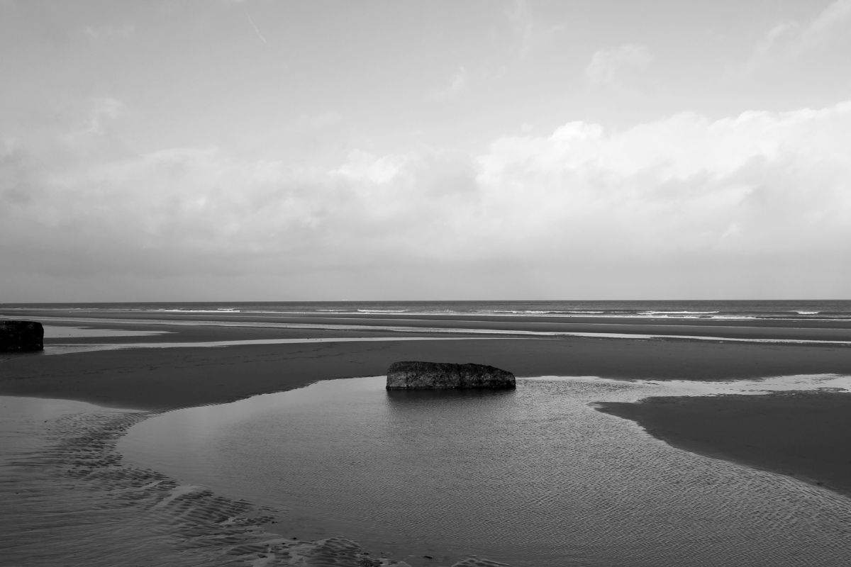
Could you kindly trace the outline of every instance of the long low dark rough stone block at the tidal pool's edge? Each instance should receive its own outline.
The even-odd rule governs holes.
[[[387,370],[388,390],[516,388],[509,371],[481,364],[394,362]]]

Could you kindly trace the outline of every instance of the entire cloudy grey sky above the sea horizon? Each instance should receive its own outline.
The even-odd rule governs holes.
[[[851,298],[851,0],[0,0],[0,303]]]

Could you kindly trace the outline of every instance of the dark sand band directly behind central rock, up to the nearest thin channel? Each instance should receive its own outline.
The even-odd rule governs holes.
[[[378,376],[397,360],[482,362],[521,377],[722,380],[851,373],[847,347],[590,337],[290,343],[3,358],[0,394],[157,411],[238,400],[329,378]]]

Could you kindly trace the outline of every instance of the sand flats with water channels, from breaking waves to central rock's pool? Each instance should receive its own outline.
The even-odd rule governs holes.
[[[34,317],[39,315],[39,317]],[[97,316],[94,316],[97,315]],[[660,332],[781,340],[851,340],[848,322],[803,321],[789,326],[719,326],[694,320],[573,320],[558,317],[307,316],[257,314],[139,314],[38,310],[0,311],[50,326],[86,326],[139,337],[46,337],[45,353],[85,345],[192,343],[272,339],[384,339],[347,343],[236,344],[220,348],[119,349],[0,355],[0,395],[88,401],[109,407],[164,411],[299,388],[317,380],[384,374],[397,360],[478,362],[519,377],[560,375],[724,380],[793,374],[851,374],[851,345],[745,343],[687,338],[606,338],[529,335],[534,332]],[[340,326],[343,321],[346,326]],[[295,326],[292,326],[295,325]],[[351,328],[357,325],[357,328]],[[817,326],[812,326],[817,325]],[[424,332],[423,327],[442,332]],[[568,328],[569,327],[569,328]],[[603,328],[604,327],[604,328]],[[479,333],[471,333],[476,329]],[[501,334],[481,334],[481,331]],[[520,334],[511,334],[517,332]],[[71,333],[66,333],[71,334]],[[393,338],[400,340],[395,341]],[[464,340],[410,340],[412,338]],[[404,340],[402,340],[404,339]]]

